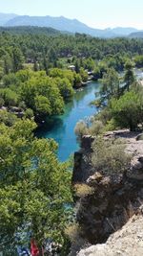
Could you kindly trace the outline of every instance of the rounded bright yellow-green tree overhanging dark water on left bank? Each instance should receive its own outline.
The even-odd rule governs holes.
[[[43,108],[43,111],[51,115],[62,113],[64,102],[56,82],[46,77],[45,73],[36,72],[35,74],[36,76],[21,85],[20,100],[24,101],[35,114],[43,107],[47,108],[47,110]]]

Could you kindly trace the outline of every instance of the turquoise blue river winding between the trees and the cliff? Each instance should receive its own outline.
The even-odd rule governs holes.
[[[74,151],[79,149],[74,127],[79,120],[96,113],[96,107],[90,103],[95,100],[95,92],[98,88],[99,83],[92,82],[82,90],[76,91],[72,100],[65,105],[64,114],[51,118],[38,129],[38,137],[53,138],[58,143],[59,160],[67,160]]]

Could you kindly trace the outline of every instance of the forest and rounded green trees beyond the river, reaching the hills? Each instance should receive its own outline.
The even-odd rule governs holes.
[[[102,81],[103,101],[105,97],[119,97],[116,72],[126,69],[124,82],[128,88],[133,82],[130,59],[141,67],[142,49],[141,39],[61,35],[34,27],[1,29],[0,105],[8,111],[11,106],[19,107],[19,112],[28,117],[25,111],[29,108],[35,121],[40,122],[62,113],[73,88],[87,82],[91,75]]]

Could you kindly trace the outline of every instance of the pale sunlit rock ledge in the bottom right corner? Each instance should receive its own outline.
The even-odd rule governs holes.
[[[78,256],[141,256],[143,255],[143,211],[140,208],[122,229],[113,233],[106,244],[82,249]]]

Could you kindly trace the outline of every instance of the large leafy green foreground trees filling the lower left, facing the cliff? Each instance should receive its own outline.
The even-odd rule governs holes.
[[[59,244],[66,239],[71,173],[67,163],[57,160],[56,143],[35,138],[34,128],[30,120],[0,126],[0,241],[5,252],[25,243],[24,232],[28,245],[32,237],[40,251],[46,239]]]

